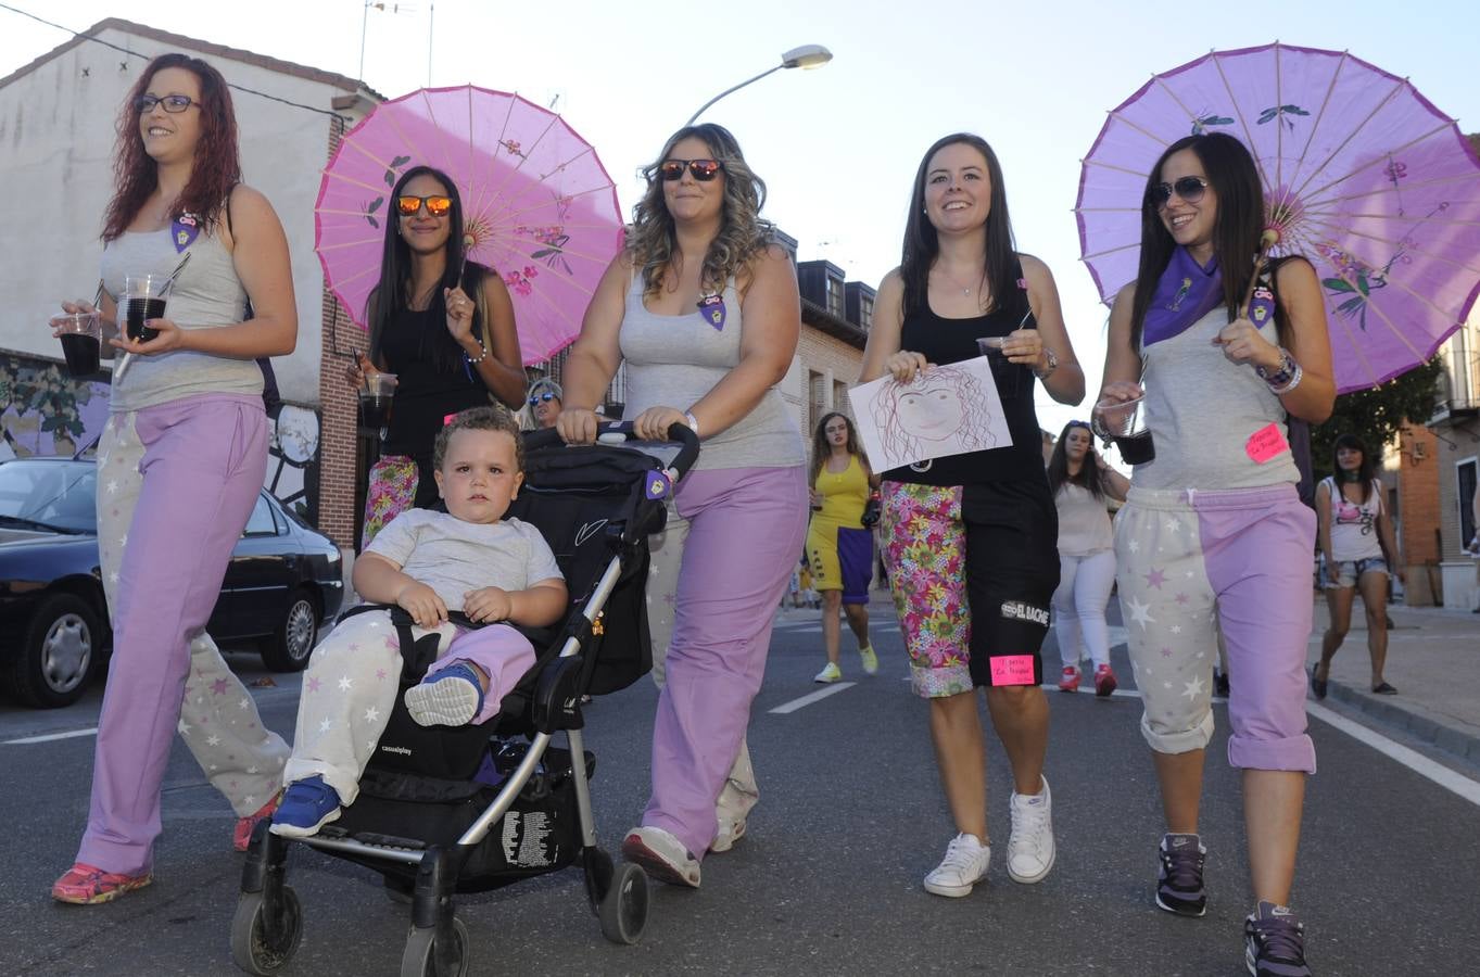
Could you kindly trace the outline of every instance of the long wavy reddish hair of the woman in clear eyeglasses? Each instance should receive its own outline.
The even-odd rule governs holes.
[[[118,144],[112,157],[112,200],[104,216],[102,240],[114,241],[129,229],[133,219],[160,185],[158,166],[144,151],[139,135],[139,111],[133,107],[148,92],[154,75],[166,68],[184,68],[200,81],[200,141],[189,182],[170,206],[170,219],[191,213],[201,219],[201,231],[210,232],[221,221],[231,188],[241,182],[241,157],[237,151],[237,115],[231,108],[231,92],[221,73],[200,58],[170,53],[149,62],[129,90],[118,113]],[[194,107],[185,111],[197,111]]]

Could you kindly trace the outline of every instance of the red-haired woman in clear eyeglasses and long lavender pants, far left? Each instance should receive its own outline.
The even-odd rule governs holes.
[[[231,801],[238,850],[271,814],[287,759],[204,631],[266,475],[256,360],[297,342],[287,240],[266,197],[241,182],[221,73],[179,53],[149,62],[118,117],[114,175],[99,312],[105,351],[124,355],[98,443],[112,659],[87,830],[52,887],[53,899],[81,904],[152,881],[176,728]],[[142,274],[175,274],[164,317],[144,323],[155,330],[147,339],[118,330],[126,278]],[[256,315],[243,321],[249,302]]]

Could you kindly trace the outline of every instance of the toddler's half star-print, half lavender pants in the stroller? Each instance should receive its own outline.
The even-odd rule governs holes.
[[[482,711],[474,722],[491,719],[503,696],[534,665],[534,645],[508,625],[472,631],[451,623],[435,629],[413,625],[411,638],[423,638],[432,631],[441,641],[437,660],[426,669],[426,681],[457,662],[477,665],[488,675]],[[340,804],[354,804],[360,776],[391,722],[400,691],[401,642],[391,611],[373,610],[339,622],[314,648],[303,672],[293,756],[283,770],[284,786],[317,774],[339,792]]]

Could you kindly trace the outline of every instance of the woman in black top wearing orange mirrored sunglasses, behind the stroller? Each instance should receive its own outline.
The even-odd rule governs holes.
[[[468,261],[457,185],[441,170],[414,166],[391,191],[380,281],[366,301],[370,351],[348,370],[394,373],[395,409],[380,457],[370,466],[360,546],[413,506],[437,502],[432,446],[447,417],[524,403],[524,366],[514,302],[503,280]]]

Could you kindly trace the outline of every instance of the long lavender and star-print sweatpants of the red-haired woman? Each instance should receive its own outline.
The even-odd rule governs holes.
[[[98,555],[114,650],[78,862],[149,870],[176,727],[238,817],[278,789],[287,743],[204,631],[266,463],[260,397],[188,397],[104,426]]]

